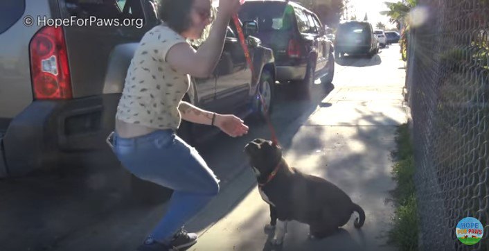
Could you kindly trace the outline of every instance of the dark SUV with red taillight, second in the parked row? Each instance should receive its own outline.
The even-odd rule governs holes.
[[[276,80],[307,93],[317,78],[332,82],[334,49],[314,12],[292,1],[245,1],[239,16],[245,26],[249,21],[258,23],[254,35],[274,51]]]

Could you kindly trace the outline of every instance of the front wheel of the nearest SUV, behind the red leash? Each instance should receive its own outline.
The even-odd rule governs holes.
[[[258,94],[263,98],[263,103],[265,103],[265,107],[263,106],[262,101],[257,98],[258,105],[256,105],[256,116],[261,121],[265,120],[266,116],[272,114],[274,110],[274,87],[275,80],[272,76],[272,73],[267,69],[263,69],[262,74],[260,76],[260,83],[258,83]]]

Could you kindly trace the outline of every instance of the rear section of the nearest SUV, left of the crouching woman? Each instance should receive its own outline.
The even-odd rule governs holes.
[[[149,0],[1,0],[0,178],[108,150],[125,72],[158,22]]]

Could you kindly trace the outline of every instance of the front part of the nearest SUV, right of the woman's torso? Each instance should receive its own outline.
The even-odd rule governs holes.
[[[240,23],[242,26],[242,23]],[[211,78],[193,78],[193,91],[184,97],[197,107],[224,114],[236,114],[242,118],[254,116],[264,121],[274,109],[276,65],[272,49],[262,45],[253,33],[258,30],[254,21],[242,27],[252,58],[254,72],[247,65],[245,52],[238,38],[238,31],[231,20],[220,61]],[[198,49],[198,46],[195,46]],[[258,99],[263,98],[263,103]],[[212,136],[209,126],[182,121],[179,135],[190,144],[198,144]]]

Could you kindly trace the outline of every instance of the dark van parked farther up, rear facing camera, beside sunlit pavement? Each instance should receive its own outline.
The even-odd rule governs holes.
[[[369,57],[379,52],[379,40],[373,33],[372,24],[366,21],[341,21],[335,41],[335,58],[345,53],[366,54]]]

